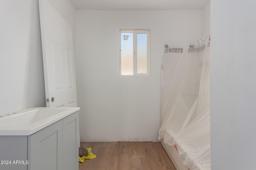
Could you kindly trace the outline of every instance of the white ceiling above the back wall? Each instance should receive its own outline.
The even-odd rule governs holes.
[[[210,0],[70,0],[76,10],[201,10]]]

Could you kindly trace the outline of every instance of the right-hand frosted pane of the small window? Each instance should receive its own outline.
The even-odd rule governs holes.
[[[137,73],[148,73],[148,36],[137,33]]]

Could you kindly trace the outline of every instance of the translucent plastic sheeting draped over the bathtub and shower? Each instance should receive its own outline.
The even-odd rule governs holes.
[[[210,170],[210,37],[166,44],[161,85],[159,139],[190,170]]]

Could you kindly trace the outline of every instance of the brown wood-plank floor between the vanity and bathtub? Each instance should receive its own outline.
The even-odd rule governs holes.
[[[176,170],[159,142],[88,142],[96,158],[79,162],[79,170]]]

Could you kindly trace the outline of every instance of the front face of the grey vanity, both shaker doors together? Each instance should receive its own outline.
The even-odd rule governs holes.
[[[78,112],[28,136],[28,170],[78,170]]]

